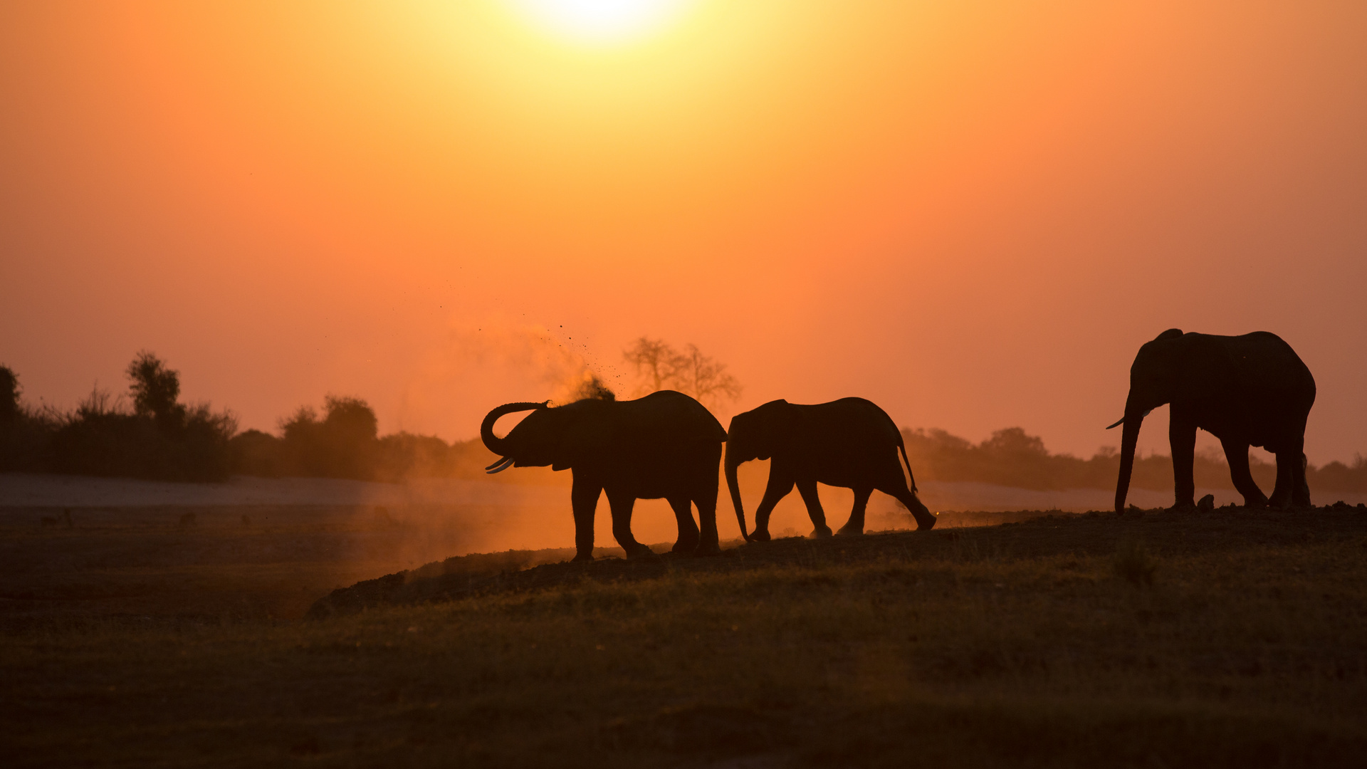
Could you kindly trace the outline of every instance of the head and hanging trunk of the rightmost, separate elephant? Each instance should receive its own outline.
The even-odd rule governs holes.
[[[1191,402],[1228,390],[1228,369],[1221,356],[1203,349],[1204,334],[1182,334],[1169,328],[1146,343],[1129,368],[1129,395],[1125,416],[1111,424],[1124,424],[1120,449],[1120,478],[1115,482],[1115,510],[1125,509],[1129,479],[1135,469],[1139,427],[1148,412],[1172,402]]]

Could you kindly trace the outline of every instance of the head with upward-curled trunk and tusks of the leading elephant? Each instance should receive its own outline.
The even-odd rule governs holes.
[[[502,458],[484,468],[489,473],[503,472],[510,467],[545,467],[560,471],[573,468],[595,446],[601,443],[599,420],[591,410],[601,401],[578,401],[565,406],[518,402],[504,404],[491,410],[480,424],[480,439],[484,446]],[[500,416],[530,410],[507,435],[493,435],[493,423]],[[586,419],[588,417],[588,419]]]

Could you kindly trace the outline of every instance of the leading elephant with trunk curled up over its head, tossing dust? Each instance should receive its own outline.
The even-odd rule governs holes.
[[[493,423],[507,413],[530,410],[506,436]],[[488,413],[480,438],[502,458],[485,468],[570,469],[574,482],[576,561],[593,560],[593,513],[607,493],[612,535],[629,558],[649,557],[649,547],[632,536],[637,499],[668,499],[678,519],[674,553],[720,553],[716,536],[718,464],[726,431],[703,404],[673,390],[634,401],[588,398],[563,406],[550,402],[504,404]],[[699,531],[690,505],[697,505]]]

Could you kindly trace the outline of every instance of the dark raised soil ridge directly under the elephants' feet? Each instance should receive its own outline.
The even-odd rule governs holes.
[[[726,573],[772,566],[823,568],[867,561],[1018,560],[1059,554],[1103,556],[1122,542],[1141,542],[1155,556],[1182,556],[1256,546],[1284,546],[1367,535],[1367,509],[1325,506],[1293,512],[1131,510],[1107,513],[990,513],[1023,519],[998,525],[958,525],[987,513],[949,513],[932,531],[893,531],[828,539],[786,538],[730,543],[720,556],[663,553],[625,560],[621,549],[599,549],[592,562],[569,562],[573,549],[510,550],[461,556],[334,590],[308,617],[351,614],[387,605],[455,601],[476,595],[543,590],[582,582],[637,582],[674,572]],[[954,516],[954,517],[951,517]],[[962,521],[956,517],[962,517]],[[1367,546],[1367,540],[1364,540]],[[667,545],[656,550],[667,550]]]

